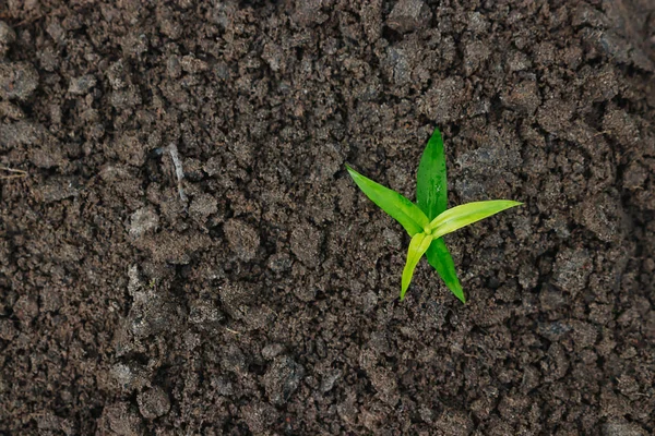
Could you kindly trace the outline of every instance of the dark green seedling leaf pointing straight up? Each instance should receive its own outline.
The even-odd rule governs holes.
[[[416,204],[429,219],[437,218],[448,207],[445,157],[439,129],[434,129],[418,165]]]

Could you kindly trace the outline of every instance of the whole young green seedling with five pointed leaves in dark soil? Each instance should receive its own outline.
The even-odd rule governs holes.
[[[397,192],[361,175],[347,165],[346,168],[366,196],[398,221],[412,237],[407,250],[407,262],[403,269],[401,301],[409,288],[416,265],[425,254],[428,263],[437,269],[445,286],[463,303],[466,303],[462,284],[460,284],[455,271],[455,264],[442,237],[522,203],[510,199],[492,199],[467,203],[446,210],[445,157],[439,129],[432,133],[418,165],[416,204]]]

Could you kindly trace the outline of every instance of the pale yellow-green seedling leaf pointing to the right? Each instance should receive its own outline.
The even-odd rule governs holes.
[[[430,233],[434,239],[441,238],[480,219],[522,204],[511,199],[491,199],[455,206],[434,218],[426,228],[426,232]]]

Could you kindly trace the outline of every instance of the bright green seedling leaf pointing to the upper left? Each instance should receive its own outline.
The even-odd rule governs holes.
[[[357,183],[366,196],[380,206],[380,208],[393,219],[398,221],[410,237],[422,232],[430,222],[428,217],[426,217],[426,214],[424,214],[418,206],[397,192],[382,186],[380,183],[373,182],[347,165],[346,168],[355,183]]]

